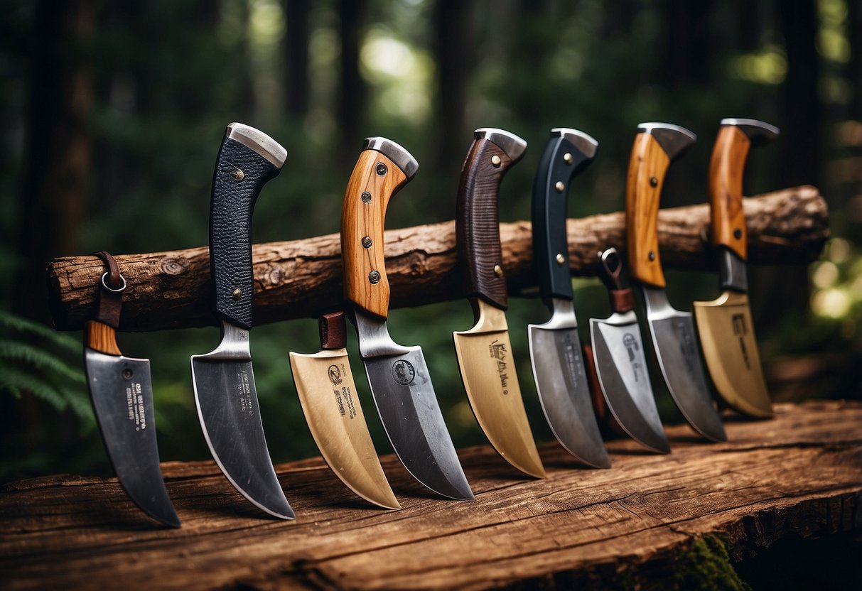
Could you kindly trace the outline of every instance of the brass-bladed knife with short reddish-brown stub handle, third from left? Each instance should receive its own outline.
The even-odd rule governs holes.
[[[400,509],[374,451],[347,359],[344,312],[320,318],[321,351],[290,353],[290,370],[317,448],[347,488],[365,501]]]

